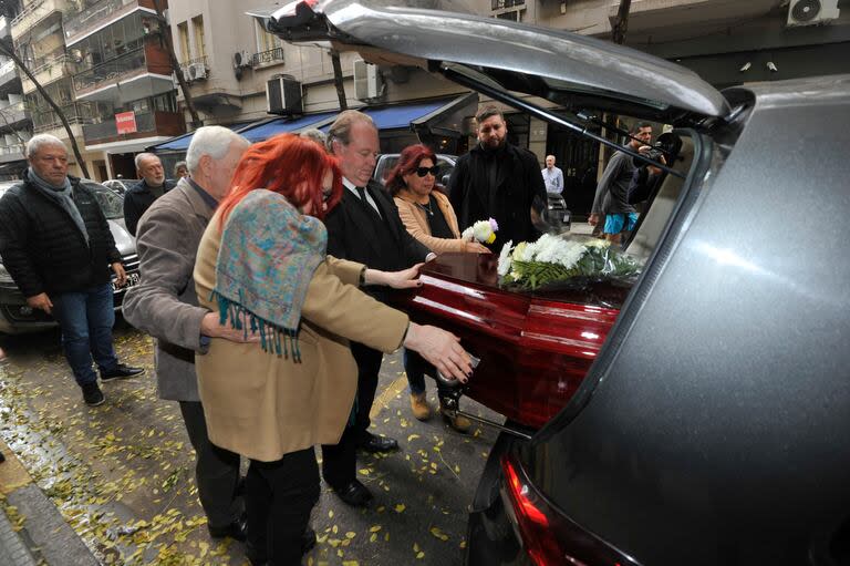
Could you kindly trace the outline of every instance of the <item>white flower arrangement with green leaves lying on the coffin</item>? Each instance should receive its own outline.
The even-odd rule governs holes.
[[[531,244],[508,241],[499,254],[498,274],[504,284],[530,289],[576,277],[609,279],[640,272],[641,264],[611,249],[601,239],[578,240],[545,234]]]

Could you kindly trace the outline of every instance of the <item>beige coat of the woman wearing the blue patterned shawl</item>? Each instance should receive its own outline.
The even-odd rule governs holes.
[[[219,216],[198,248],[195,286],[201,306],[215,287]],[[197,354],[198,391],[212,444],[262,462],[314,444],[335,444],[354,402],[357,367],[349,339],[392,352],[407,316],[357,288],[361,264],[329,257],[313,275],[301,310],[300,363],[258,343],[214,339]]]

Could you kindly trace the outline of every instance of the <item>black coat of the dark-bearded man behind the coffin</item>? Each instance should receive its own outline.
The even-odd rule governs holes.
[[[496,192],[490,194],[487,182],[489,159],[498,159]],[[506,144],[497,154],[487,154],[476,145],[457,159],[448,181],[448,195],[457,214],[460,230],[478,220],[495,218],[499,225],[491,249],[514,240],[533,241],[540,233],[531,224],[531,208],[546,209],[546,184],[537,156],[528,150]]]

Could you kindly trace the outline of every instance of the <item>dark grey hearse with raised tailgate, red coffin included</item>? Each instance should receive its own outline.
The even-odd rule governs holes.
[[[487,258],[425,267],[412,312],[462,336],[470,393],[510,414],[467,563],[850,564],[850,75],[719,92],[612,43],[386,3],[256,16],[600,143],[609,112],[683,142],[625,245],[646,263],[624,300],[517,292]]]

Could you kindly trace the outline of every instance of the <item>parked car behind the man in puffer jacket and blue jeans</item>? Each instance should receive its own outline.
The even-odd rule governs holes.
[[[15,183],[18,182],[0,184],[0,197]],[[115,287],[113,282],[115,308],[120,309],[124,300],[124,292],[138,282],[136,239],[129,235],[124,226],[124,197],[94,181],[83,179],[81,183],[92,191],[97,198],[127,271],[126,286]],[[18,290],[14,280],[0,263],[0,332],[9,335],[35,332],[54,326],[56,326],[56,321],[50,315],[27,305],[27,299]]]

